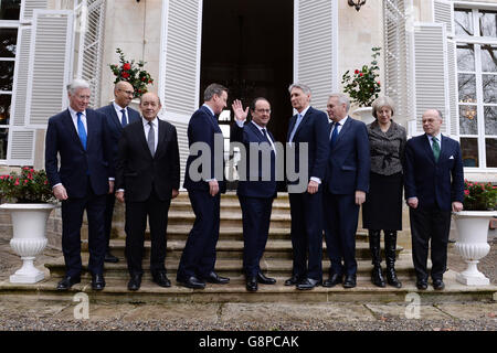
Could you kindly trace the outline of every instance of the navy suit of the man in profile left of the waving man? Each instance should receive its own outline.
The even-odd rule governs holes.
[[[209,147],[211,157],[211,170],[205,179],[216,179],[220,192],[215,196],[209,193],[209,182],[205,179],[194,181],[190,175],[190,165],[199,156],[189,156],[187,160],[187,169],[184,173],[184,189],[188,190],[188,196],[195,214],[195,221],[187,239],[183,254],[178,267],[178,281],[188,280],[192,276],[198,278],[207,278],[214,270],[215,265],[215,246],[219,238],[220,226],[220,204],[221,193],[226,191],[226,184],[221,174],[215,174],[215,162],[224,165],[223,145],[216,151],[214,149],[214,136],[220,133],[221,129],[215,116],[205,106],[200,107],[190,118],[188,125],[188,143],[191,148],[195,142],[203,142]],[[215,154],[218,152],[218,154]],[[205,172],[202,168],[199,172]]]

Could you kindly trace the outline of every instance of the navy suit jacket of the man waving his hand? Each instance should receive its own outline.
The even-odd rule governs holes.
[[[273,142],[275,141],[273,135],[266,129]],[[236,189],[236,194],[241,196],[250,197],[275,197],[276,196],[276,154],[274,151],[269,156],[269,165],[264,165],[264,169],[271,172],[271,181],[263,181],[263,153],[261,150],[258,152],[258,165],[257,169],[250,168],[251,161],[251,143],[269,143],[261,130],[252,122],[246,121],[241,128],[233,122],[231,128],[231,140],[235,142],[241,142],[245,146],[245,163],[246,163],[246,175],[243,175],[246,181],[239,181],[239,186]],[[240,172],[240,169],[239,169]]]

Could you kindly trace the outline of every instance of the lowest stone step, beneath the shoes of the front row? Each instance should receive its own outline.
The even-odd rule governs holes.
[[[34,285],[14,285],[0,282],[0,296],[35,296],[39,300],[72,301],[74,296],[85,292],[91,302],[136,303],[136,302],[403,302],[412,301],[413,295],[423,304],[444,302],[467,302],[495,300],[496,286],[469,287],[456,282],[456,274],[447,271],[444,276],[445,290],[434,290],[430,285],[427,290],[421,291],[414,281],[406,281],[402,288],[378,288],[369,280],[358,280],[357,287],[345,289],[338,285],[334,288],[316,287],[314,290],[300,291],[295,287],[285,287],[284,278],[278,278],[274,286],[261,285],[257,292],[247,292],[242,278],[232,279],[229,285],[210,285],[203,290],[189,289],[177,286],[171,279],[172,287],[161,288],[148,279],[141,284],[136,292],[127,290],[125,278],[108,278],[103,291],[94,291],[89,278],[73,286],[68,291],[56,291],[59,278],[52,277]],[[408,295],[410,296],[408,298]]]

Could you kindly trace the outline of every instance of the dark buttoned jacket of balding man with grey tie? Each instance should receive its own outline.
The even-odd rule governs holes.
[[[154,190],[162,201],[179,190],[180,162],[176,127],[158,119],[159,131],[154,157],[148,149],[142,119],[127,125],[119,139],[116,190],[125,190],[128,202],[146,201]]]

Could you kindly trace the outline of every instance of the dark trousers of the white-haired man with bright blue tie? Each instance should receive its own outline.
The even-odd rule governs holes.
[[[62,252],[66,276],[80,276],[82,271],[81,226],[85,210],[88,220],[88,271],[92,275],[104,274],[105,199],[106,195],[95,195],[88,180],[88,190],[84,197],[70,197],[62,202]]]

